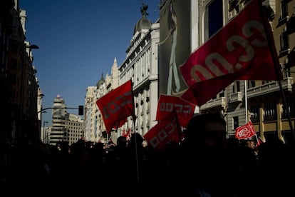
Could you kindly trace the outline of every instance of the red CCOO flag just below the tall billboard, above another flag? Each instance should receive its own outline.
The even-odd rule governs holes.
[[[188,121],[190,121],[190,118],[194,115],[195,105],[178,96],[161,94],[157,103],[156,120],[162,121],[167,118],[167,115],[172,113],[172,111],[176,112],[179,125],[186,127]]]

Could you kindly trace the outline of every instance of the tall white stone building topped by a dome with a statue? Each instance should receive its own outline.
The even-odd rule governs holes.
[[[152,23],[147,19],[148,6],[141,7],[141,18],[135,24],[130,46],[126,50],[126,58],[120,64],[120,83],[133,81],[135,102],[135,126],[133,120],[122,130],[131,129],[133,132],[144,135],[152,126],[155,126],[158,94],[158,43],[160,40],[160,24]],[[118,132],[120,134],[121,131]],[[113,134],[112,134],[113,135]]]

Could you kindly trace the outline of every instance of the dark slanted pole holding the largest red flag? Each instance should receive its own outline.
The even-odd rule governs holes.
[[[254,1],[254,0],[252,0]],[[271,52],[271,58],[274,62],[274,69],[276,71],[276,78],[277,78],[277,81],[279,83],[279,89],[281,91],[281,96],[283,97],[283,103],[284,103],[284,106],[287,106],[287,103],[286,103],[286,97],[285,97],[285,94],[284,94],[284,90],[281,86],[281,77],[279,76],[279,71],[278,70],[278,65],[279,65],[279,59],[278,58],[275,58],[277,57],[277,53],[274,51],[275,48],[275,45],[274,45],[274,40],[271,39],[269,37],[269,34],[271,34],[271,29],[269,29],[267,26],[266,26],[266,22],[269,22],[266,15],[264,14],[264,9],[262,7],[262,2],[257,2],[259,4],[259,13],[262,15],[262,19],[264,20],[264,23],[263,23],[263,26],[264,26],[264,30],[265,31],[265,34],[266,34],[266,39],[267,39],[267,43],[269,44],[270,46],[270,52]],[[294,141],[295,141],[295,133],[294,133],[294,128],[292,126],[292,122],[291,122],[291,117],[290,117],[290,113],[289,113],[289,107],[286,107],[286,112],[287,112],[287,117],[288,117],[288,122],[289,122],[289,126],[290,126],[290,131],[293,135],[293,138],[294,138]]]

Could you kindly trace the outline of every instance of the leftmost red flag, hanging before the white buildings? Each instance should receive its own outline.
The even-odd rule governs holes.
[[[96,104],[102,113],[105,129],[108,133],[112,128],[122,126],[127,121],[128,116],[133,116],[134,121],[132,81],[129,80],[117,89],[105,94],[96,101]]]

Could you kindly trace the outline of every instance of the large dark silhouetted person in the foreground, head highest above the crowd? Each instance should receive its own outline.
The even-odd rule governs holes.
[[[194,116],[182,142],[182,195],[234,196],[227,131],[220,113]],[[181,194],[180,193],[180,194]]]

